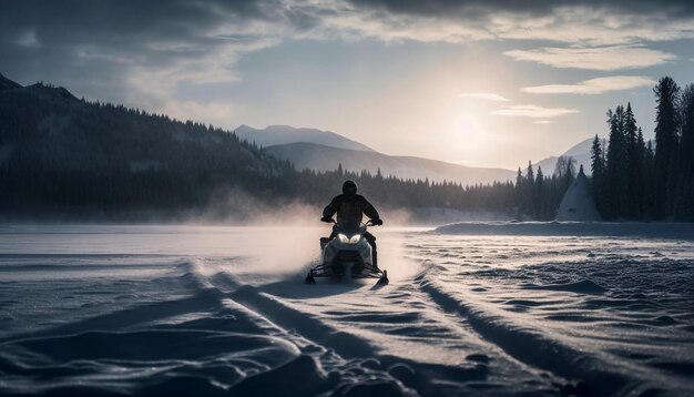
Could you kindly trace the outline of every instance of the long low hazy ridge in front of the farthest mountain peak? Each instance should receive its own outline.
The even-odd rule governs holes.
[[[288,143],[266,147],[269,154],[288,160],[297,170],[312,169],[333,171],[343,165],[345,170],[367,170],[384,176],[396,175],[401,179],[429,179],[430,181],[453,181],[466,184],[491,183],[513,180],[513,171],[503,169],[483,169],[458,165],[437,160],[391,156],[375,151],[358,151],[330,147],[315,143]]]

